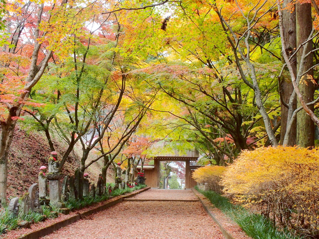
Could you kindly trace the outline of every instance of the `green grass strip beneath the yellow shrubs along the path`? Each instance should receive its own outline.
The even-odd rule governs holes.
[[[239,205],[232,204],[226,197],[213,191],[199,190],[211,203],[235,221],[247,235],[254,239],[302,239],[287,231],[278,230],[272,221],[260,214],[252,214]]]

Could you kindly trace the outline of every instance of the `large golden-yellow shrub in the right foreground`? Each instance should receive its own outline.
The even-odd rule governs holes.
[[[319,153],[297,147],[243,151],[221,185],[234,200],[304,235],[319,234]]]

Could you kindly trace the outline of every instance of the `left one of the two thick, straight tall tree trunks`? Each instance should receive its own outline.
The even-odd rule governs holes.
[[[283,28],[284,28],[284,39],[286,43],[286,49],[284,49],[290,57],[294,53],[294,49],[296,49],[297,39],[296,39],[296,11],[295,8],[291,11],[291,4],[292,0],[285,0],[283,2]],[[297,74],[297,57],[296,55],[292,58],[292,67],[294,74]],[[289,77],[289,73],[283,74],[281,79],[281,95],[282,100],[289,103],[289,99],[291,94],[293,93],[293,83],[291,82],[291,78]],[[281,127],[280,127],[280,144],[283,144],[285,134],[286,134],[286,127],[287,127],[287,117],[288,117],[288,108],[283,105],[281,102]],[[293,110],[297,107],[297,99],[293,102]],[[289,136],[287,146],[293,146],[296,144],[296,137],[297,137],[297,130],[296,126],[297,120],[293,121],[291,133]]]

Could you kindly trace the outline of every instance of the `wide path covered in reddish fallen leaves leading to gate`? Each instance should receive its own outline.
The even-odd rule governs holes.
[[[148,190],[138,197],[193,199],[191,193],[190,190]],[[199,202],[181,201],[124,201],[43,237],[58,238],[224,239]]]

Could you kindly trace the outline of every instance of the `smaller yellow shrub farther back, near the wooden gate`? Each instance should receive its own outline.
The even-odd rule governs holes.
[[[225,172],[226,168],[222,166],[205,166],[196,169],[192,177],[197,183],[207,183],[210,190],[221,193],[222,187],[219,185],[220,176]]]

